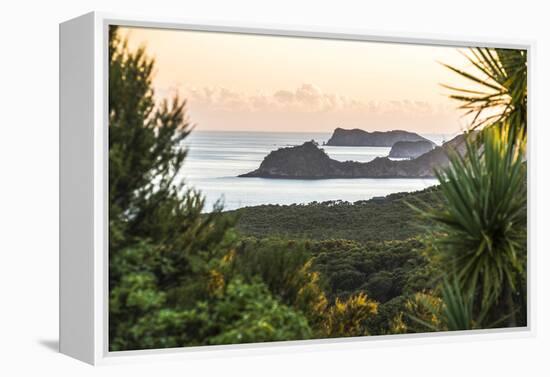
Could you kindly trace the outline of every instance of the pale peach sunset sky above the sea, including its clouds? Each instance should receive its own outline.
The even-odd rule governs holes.
[[[179,94],[196,130],[331,132],[403,129],[453,134],[467,120],[441,63],[459,48],[236,33],[121,28],[155,58],[157,98]],[[463,51],[464,52],[464,51]]]

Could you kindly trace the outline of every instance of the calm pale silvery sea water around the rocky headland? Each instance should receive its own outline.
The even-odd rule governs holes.
[[[441,144],[445,135],[424,135]],[[239,178],[258,168],[274,149],[300,145],[308,140],[326,142],[330,133],[195,131],[185,140],[189,154],[181,172],[186,183],[206,196],[206,211],[217,200],[227,210],[259,204],[310,203],[344,200],[355,202],[395,192],[416,191],[437,183],[435,179],[324,179],[296,180]],[[387,156],[390,148],[329,147],[339,161],[367,162]]]

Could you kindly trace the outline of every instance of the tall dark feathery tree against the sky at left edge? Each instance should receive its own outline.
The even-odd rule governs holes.
[[[202,215],[204,199],[178,175],[191,131],[185,101],[156,103],[154,60],[129,51],[116,27],[109,34],[109,250],[158,245],[167,258],[159,283],[177,283],[193,269],[190,255],[215,250],[230,221],[219,206]]]

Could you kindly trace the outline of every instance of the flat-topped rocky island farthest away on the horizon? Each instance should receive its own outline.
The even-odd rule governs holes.
[[[428,139],[414,133],[402,130],[367,132],[359,128],[346,130],[336,128],[330,139],[329,146],[344,147],[392,147],[399,141],[428,141]]]

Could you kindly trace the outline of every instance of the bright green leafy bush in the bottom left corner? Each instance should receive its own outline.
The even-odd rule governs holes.
[[[178,309],[169,305],[151,279],[141,280],[129,287],[131,292],[117,288],[112,293],[112,310],[127,305],[139,313],[135,320],[123,322],[123,331],[111,339],[112,350],[311,337],[304,315],[280,303],[261,282],[246,284],[236,279],[223,291],[195,302],[192,308]]]

